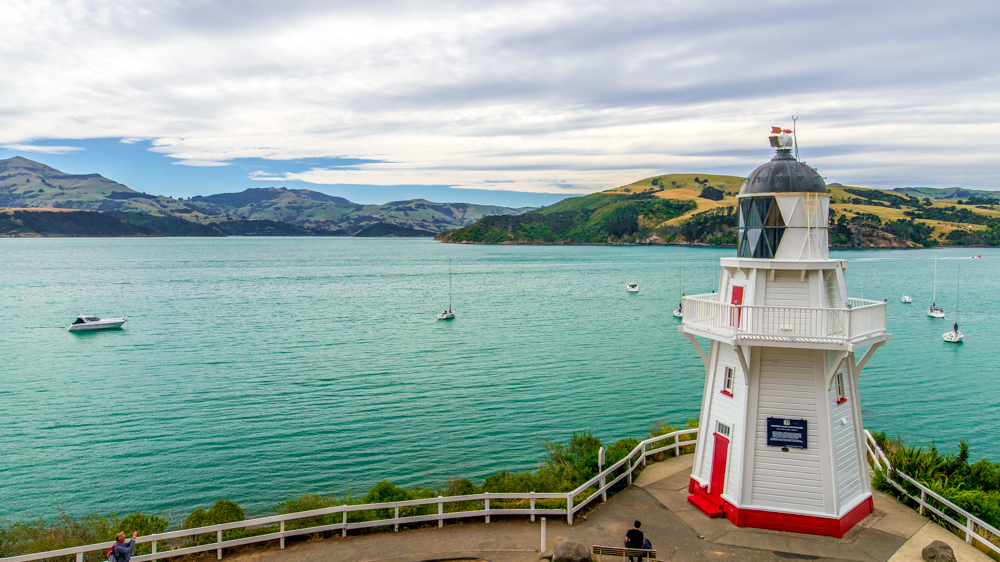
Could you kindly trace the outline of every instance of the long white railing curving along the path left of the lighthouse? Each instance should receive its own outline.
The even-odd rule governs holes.
[[[242,546],[246,544],[274,541],[277,540],[281,548],[285,548],[285,539],[288,537],[294,537],[296,535],[306,535],[312,533],[321,533],[328,531],[340,531],[342,536],[347,536],[347,532],[356,529],[366,529],[371,527],[386,527],[392,525],[394,530],[398,531],[400,525],[413,524],[413,523],[431,523],[437,522],[438,527],[443,527],[444,522],[452,519],[467,519],[474,517],[483,517],[486,523],[490,522],[491,515],[502,515],[502,516],[529,516],[531,520],[534,521],[536,516],[539,515],[559,515],[565,516],[566,522],[570,525],[573,524],[573,516],[583,509],[587,504],[594,501],[596,498],[600,497],[602,501],[607,500],[607,492],[613,486],[617,485],[622,480],[627,479],[628,484],[632,484],[632,473],[635,472],[640,466],[645,466],[646,459],[650,456],[672,452],[673,456],[678,456],[681,454],[681,447],[694,447],[695,441],[681,441],[682,436],[686,435],[697,435],[698,429],[684,429],[680,431],[674,431],[672,433],[667,433],[665,435],[659,435],[656,437],[651,437],[645,441],[640,442],[632,451],[625,456],[625,458],[619,460],[618,462],[612,464],[611,466],[603,469],[597,476],[594,476],[587,482],[584,482],[578,486],[575,490],[571,492],[564,493],[512,493],[512,494],[500,494],[500,493],[490,493],[485,492],[482,494],[469,494],[465,496],[438,496],[436,498],[424,498],[417,500],[407,500],[398,502],[386,502],[386,503],[370,503],[370,504],[357,504],[357,505],[338,505],[335,507],[327,507],[323,509],[314,509],[311,511],[299,511],[296,513],[286,513],[281,515],[272,515],[270,517],[258,517],[256,519],[247,519],[244,521],[236,521],[233,523],[224,523],[221,525],[210,525],[207,527],[198,527],[195,529],[181,529],[178,531],[170,531],[167,533],[158,533],[155,535],[147,535],[144,537],[139,537],[136,542],[142,543],[152,543],[151,544],[151,554],[143,554],[138,556],[133,556],[133,562],[147,562],[150,560],[160,560],[164,558],[173,558],[175,556],[184,556],[188,554],[195,554],[198,552],[206,552],[210,550],[215,550],[219,560],[222,559],[222,550],[224,548],[232,548],[234,546]],[[671,442],[672,441],[672,442]],[[664,443],[666,442],[666,443]],[[624,468],[621,474],[615,475],[615,472]],[[610,478],[610,480],[609,480]],[[596,488],[594,488],[596,486]],[[577,497],[587,493],[589,490],[594,489],[592,493],[583,498],[582,501],[577,502]],[[518,509],[508,509],[505,507],[491,507],[490,500],[500,501],[500,500],[519,500],[522,502],[528,502],[528,508],[518,508]],[[561,500],[566,502],[565,508],[557,509],[545,509],[536,506],[537,500]],[[456,504],[461,502],[483,502],[483,509],[471,509],[465,511],[450,511],[447,512],[444,509],[446,504]],[[437,513],[423,514],[423,515],[400,515],[401,509],[415,508],[419,506],[436,505]],[[392,510],[393,516],[382,519],[374,519],[369,521],[349,521],[348,514],[356,511],[371,511],[371,510]],[[301,519],[309,519],[312,517],[322,517],[340,514],[340,521],[337,523],[316,525],[312,527],[305,527],[301,529],[287,529],[285,528],[286,523],[291,521],[297,521]],[[277,529],[270,531],[269,528],[273,529],[277,525]],[[223,540],[223,532],[231,531],[234,529],[258,529],[270,532],[264,532],[259,535],[254,535],[250,537],[241,537],[230,540]],[[181,548],[172,548],[170,550],[158,551],[158,543],[162,544],[164,541],[184,539],[188,537],[194,537],[196,535],[210,535],[215,534],[215,542],[209,544],[200,544],[193,546],[185,546]],[[0,558],[3,562],[28,562],[31,560],[43,560],[46,558],[57,558],[64,556],[76,556],[77,562],[83,562],[83,555],[87,552],[97,552],[103,555],[104,551],[114,544],[113,541],[108,541],[104,543],[89,544],[83,546],[75,546],[72,548],[63,548],[59,550],[49,550],[45,552],[36,552],[33,554],[24,554],[21,556],[13,556],[9,558]]]

